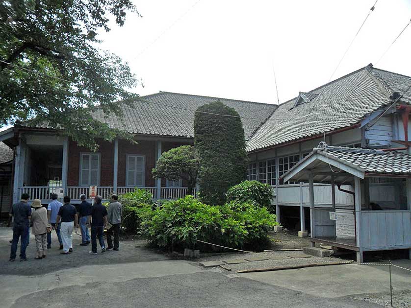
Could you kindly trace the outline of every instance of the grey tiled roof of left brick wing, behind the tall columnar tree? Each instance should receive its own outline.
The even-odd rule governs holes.
[[[111,114],[104,117],[103,111],[93,117],[133,134],[150,134],[162,136],[194,137],[194,114],[198,107],[220,100],[234,108],[241,117],[246,140],[257,131],[271,116],[277,105],[250,101],[233,100],[218,97],[187,95],[170,92],[159,92],[142,96],[130,104],[119,103],[123,117]],[[47,123],[38,124],[38,128],[47,128]]]

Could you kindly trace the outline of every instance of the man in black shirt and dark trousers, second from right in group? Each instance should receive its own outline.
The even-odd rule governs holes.
[[[94,197],[94,206],[91,210],[91,251],[90,254],[97,255],[97,237],[99,237],[102,253],[105,252],[103,238],[104,226],[107,225],[107,209],[102,204],[102,196]],[[88,219],[90,223],[90,216]]]

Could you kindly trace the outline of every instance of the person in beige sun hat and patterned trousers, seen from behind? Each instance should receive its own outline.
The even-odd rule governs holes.
[[[41,200],[34,199],[31,207],[34,209],[31,214],[31,223],[33,225],[31,233],[36,240],[37,257],[34,259],[41,260],[46,258],[47,251],[47,210],[41,205]]]

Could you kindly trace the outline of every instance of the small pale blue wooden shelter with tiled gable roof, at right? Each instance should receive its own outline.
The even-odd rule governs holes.
[[[409,249],[411,257],[411,155],[328,146],[319,147],[283,175],[309,183],[311,245],[325,243],[357,252]],[[315,206],[314,183],[332,185],[332,207]],[[335,189],[350,184],[352,211],[335,208]]]

